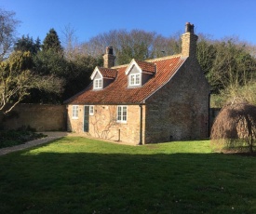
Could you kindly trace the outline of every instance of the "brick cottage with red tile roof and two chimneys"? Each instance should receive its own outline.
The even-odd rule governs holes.
[[[194,25],[185,25],[182,53],[115,66],[107,47],[91,84],[66,100],[68,130],[131,144],[204,139],[209,83],[196,60]]]

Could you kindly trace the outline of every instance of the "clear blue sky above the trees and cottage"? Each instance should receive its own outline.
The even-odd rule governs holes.
[[[44,40],[50,28],[59,36],[70,25],[80,42],[110,30],[141,29],[164,36],[183,32],[185,22],[195,33],[213,38],[238,36],[256,45],[255,0],[0,0],[16,12],[18,32]]]

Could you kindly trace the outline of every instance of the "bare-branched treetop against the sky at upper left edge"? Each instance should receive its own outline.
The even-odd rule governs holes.
[[[0,61],[7,57],[14,45],[19,23],[15,19],[15,12],[0,8]]]

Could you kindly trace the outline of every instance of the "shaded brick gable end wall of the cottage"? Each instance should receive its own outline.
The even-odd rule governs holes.
[[[146,100],[146,142],[204,139],[209,134],[209,84],[187,59],[168,84]]]

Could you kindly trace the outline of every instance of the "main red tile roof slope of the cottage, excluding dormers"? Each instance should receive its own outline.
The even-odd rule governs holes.
[[[118,71],[117,76],[109,86],[100,90],[93,90],[93,84],[90,84],[83,92],[66,102],[70,104],[141,103],[155,93],[158,88],[168,83],[185,60],[186,58],[182,58],[181,55],[148,60],[152,62],[150,64],[155,64],[156,73],[141,87],[128,87],[128,75],[125,74],[128,65],[114,67]]]

